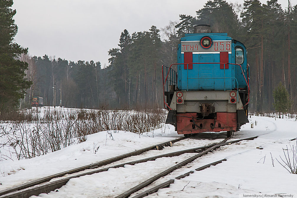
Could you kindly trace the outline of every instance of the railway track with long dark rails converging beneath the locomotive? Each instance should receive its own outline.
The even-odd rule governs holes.
[[[255,138],[256,137],[251,137],[251,138],[245,138],[245,139],[241,139],[241,140],[253,140]],[[22,184],[22,185],[19,185],[19,186],[15,186],[13,188],[0,191],[0,198],[30,197],[32,195],[39,195],[41,193],[48,193],[48,192],[53,191],[55,189],[61,188],[71,178],[77,178],[77,177],[84,176],[84,175],[91,175],[91,174],[94,174],[94,173],[107,171],[110,168],[124,167],[124,165],[126,165],[126,164],[134,165],[134,164],[138,164],[138,163],[142,163],[142,162],[146,162],[146,161],[152,161],[152,160],[155,160],[155,159],[161,158],[161,157],[179,156],[179,155],[182,155],[184,153],[198,153],[197,155],[192,156],[189,159],[186,159],[186,160],[182,161],[179,164],[176,164],[174,167],[171,167],[171,168],[163,171],[162,173],[154,176],[153,178],[150,178],[149,180],[146,180],[145,182],[139,184],[138,186],[135,186],[134,188],[130,189],[129,191],[124,192],[123,194],[119,195],[117,198],[129,197],[132,193],[134,193],[136,191],[139,191],[140,189],[144,188],[145,186],[148,186],[149,184],[151,184],[155,180],[167,175],[168,173],[172,172],[173,170],[178,169],[179,167],[182,167],[182,166],[188,164],[189,162],[197,159],[198,157],[203,156],[206,153],[208,153],[210,151],[213,151],[216,148],[219,148],[220,146],[228,145],[228,144],[232,144],[232,143],[241,141],[241,140],[235,140],[235,141],[226,142],[227,140],[229,140],[229,138],[226,138],[225,140],[223,140],[223,141],[221,141],[221,142],[219,142],[217,144],[214,143],[214,144],[206,145],[206,146],[203,146],[203,147],[191,148],[191,149],[187,149],[187,150],[183,150],[183,151],[176,151],[176,152],[172,152],[172,153],[167,153],[167,154],[153,156],[153,157],[149,157],[149,158],[145,158],[145,159],[131,161],[131,162],[127,162],[127,163],[123,163],[123,164],[119,164],[119,165],[114,165],[114,166],[111,166],[111,167],[96,169],[96,168],[98,168],[100,166],[107,165],[107,164],[113,163],[115,161],[119,161],[119,160],[127,158],[129,156],[139,155],[139,154],[141,154],[141,153],[143,153],[145,151],[149,151],[149,150],[152,150],[152,149],[158,149],[159,150],[159,149],[164,148],[164,146],[171,146],[173,142],[177,142],[177,141],[180,141],[180,140],[183,140],[183,139],[185,139],[185,138],[182,137],[182,138],[178,138],[176,140],[163,142],[162,144],[158,144],[158,145],[154,145],[154,146],[151,146],[151,147],[148,147],[148,148],[140,149],[138,151],[127,153],[127,154],[117,156],[117,157],[114,157],[114,158],[111,158],[111,159],[108,159],[108,160],[100,161],[100,162],[97,162],[95,164],[90,164],[88,166],[84,166],[84,167],[80,167],[80,168],[77,168],[77,169],[69,170],[69,171],[66,171],[66,172],[59,173],[59,174],[51,175],[49,177],[41,178],[39,180],[31,181],[29,183],[25,183],[25,184]],[[49,182],[53,178],[59,178],[59,177],[64,176],[66,174],[78,173],[78,172],[80,172],[82,170],[86,170],[86,169],[93,169],[93,170],[83,172],[83,173],[80,173],[80,174],[76,174],[76,175],[70,175],[67,178],[61,178],[61,179],[58,179],[56,181]],[[94,169],[96,169],[96,170],[94,170]]]

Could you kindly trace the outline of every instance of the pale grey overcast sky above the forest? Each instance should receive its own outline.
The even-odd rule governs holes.
[[[260,0],[265,3],[265,0]],[[196,16],[207,0],[14,0],[18,26],[15,42],[32,56],[68,61],[100,61],[108,65],[108,50],[118,47],[121,32],[164,28],[179,14]],[[227,0],[243,3],[244,0]],[[287,0],[279,0],[282,8]],[[297,0],[291,0],[296,5]]]

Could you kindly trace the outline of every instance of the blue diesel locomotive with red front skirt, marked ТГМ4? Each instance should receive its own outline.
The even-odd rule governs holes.
[[[162,66],[166,123],[185,136],[227,131],[229,137],[249,122],[246,47],[208,25],[194,29],[181,38],[178,62]]]

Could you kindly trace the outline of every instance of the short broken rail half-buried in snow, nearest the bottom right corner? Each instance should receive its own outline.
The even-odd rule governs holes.
[[[222,163],[222,161],[227,161],[227,159],[222,159],[222,160],[219,160],[219,161],[216,161],[216,162],[207,164],[207,165],[202,166],[202,167],[199,167],[199,168],[197,168],[197,169],[195,169],[195,170],[196,170],[196,171],[204,170],[204,169],[206,169],[206,168],[209,168],[210,166],[215,166],[215,165],[217,165],[217,164],[219,164],[219,163]],[[185,174],[179,175],[179,176],[176,177],[175,179],[185,178],[185,177],[189,176],[189,175],[192,174],[192,173],[194,173],[194,171],[189,171],[189,172],[187,172],[187,173],[185,173]],[[142,192],[142,193],[140,193],[140,194],[138,194],[138,195],[136,195],[136,196],[134,196],[134,197],[132,197],[132,198],[142,198],[142,197],[146,197],[146,196],[148,196],[149,194],[153,194],[153,193],[157,192],[159,189],[168,188],[168,187],[170,186],[170,184],[172,184],[172,183],[174,183],[174,179],[171,179],[171,180],[168,180],[168,181],[166,181],[166,182],[164,182],[164,183],[161,183],[161,184],[159,184],[158,186],[155,186],[155,187],[153,187],[153,188],[151,188],[151,189],[149,189],[149,190],[146,190],[146,191],[144,191],[144,192]]]

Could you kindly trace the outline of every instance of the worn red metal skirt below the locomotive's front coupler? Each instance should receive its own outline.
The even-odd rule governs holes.
[[[186,116],[186,117],[182,117]],[[190,117],[190,118],[188,118]],[[196,113],[178,113],[176,116],[177,121],[177,133],[178,134],[190,134],[190,133],[202,133],[202,132],[220,132],[220,131],[236,131],[236,113],[217,113],[217,119],[214,125],[214,129],[211,129],[211,124],[214,124],[214,119],[195,120],[198,126],[202,126],[201,129],[196,127],[191,122],[192,117],[197,117]],[[194,128],[194,129],[193,129]]]

